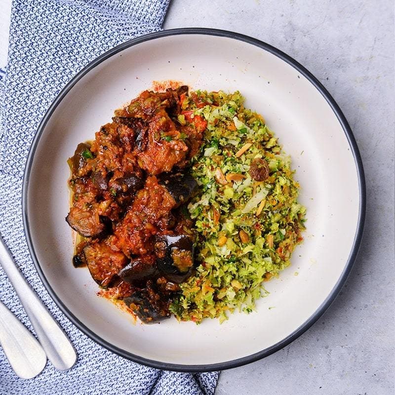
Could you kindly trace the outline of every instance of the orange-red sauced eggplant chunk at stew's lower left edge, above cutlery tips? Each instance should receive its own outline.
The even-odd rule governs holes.
[[[105,241],[88,244],[83,253],[90,275],[102,287],[111,286],[128,262],[122,252],[113,251]]]

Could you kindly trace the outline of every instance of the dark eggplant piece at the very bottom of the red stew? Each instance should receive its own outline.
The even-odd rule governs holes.
[[[158,300],[155,301],[152,300],[149,292],[138,291],[123,299],[123,301],[141,321],[150,324],[170,317],[168,303],[162,302],[159,296],[156,296]]]

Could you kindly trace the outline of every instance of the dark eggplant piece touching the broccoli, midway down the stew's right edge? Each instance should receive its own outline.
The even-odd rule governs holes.
[[[197,182],[190,174],[162,173],[158,175],[158,183],[163,185],[176,201],[175,207],[189,200],[197,190]]]

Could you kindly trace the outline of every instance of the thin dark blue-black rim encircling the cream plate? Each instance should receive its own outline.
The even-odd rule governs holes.
[[[29,190],[29,178],[30,178],[34,154],[36,152],[37,146],[40,141],[40,136],[41,136],[49,118],[52,116],[53,112],[55,111],[55,109],[57,108],[59,103],[63,100],[63,98],[67,95],[67,93],[70,91],[70,89],[79,81],[79,79],[81,79],[90,70],[92,70],[94,67],[96,67],[98,64],[100,64],[104,60],[108,59],[109,57],[117,54],[118,52],[120,52],[130,46],[133,46],[133,45],[145,42],[145,41],[155,40],[158,38],[167,37],[167,36],[175,36],[175,35],[208,35],[208,36],[226,37],[226,38],[230,38],[230,39],[234,39],[234,40],[243,41],[243,42],[255,45],[263,50],[266,50],[266,51],[276,55],[278,58],[282,59],[283,61],[285,61],[286,63],[291,65],[293,68],[295,68],[299,73],[301,73],[304,77],[306,77],[316,87],[316,89],[326,99],[327,103],[332,108],[332,111],[338,118],[338,120],[344,130],[344,133],[347,137],[347,140],[350,144],[350,149],[351,149],[351,152],[352,152],[354,159],[355,159],[356,171],[357,171],[357,176],[358,176],[358,187],[359,187],[359,197],[360,198],[359,198],[358,223],[357,223],[356,235],[354,237],[354,243],[353,243],[349,258],[347,260],[347,263],[345,265],[345,268],[344,268],[341,276],[339,277],[337,283],[335,284],[335,286],[333,287],[333,289],[331,290],[331,292],[329,293],[327,298],[324,300],[324,302],[318,307],[316,312],[312,316],[310,316],[299,328],[297,328],[294,332],[289,334],[287,337],[285,337],[284,339],[282,339],[281,341],[279,341],[272,347],[261,350],[255,354],[251,354],[249,356],[237,358],[237,359],[230,360],[230,361],[220,362],[220,363],[207,364],[207,365],[183,365],[183,364],[166,363],[166,362],[156,361],[156,360],[144,358],[141,356],[137,356],[137,355],[128,353],[122,349],[119,349],[118,347],[115,347],[111,343],[109,343],[109,342],[105,341],[104,339],[102,339],[101,337],[97,336],[89,328],[87,328],[81,321],[79,321],[79,319],[76,316],[74,316],[70,312],[70,310],[67,308],[67,306],[65,306],[63,304],[63,302],[57,297],[56,293],[51,288],[48,280],[44,276],[43,271],[40,267],[40,263],[37,259],[36,252],[33,247],[33,242],[32,242],[32,237],[31,237],[31,229],[30,229],[30,225],[29,225],[28,212],[27,212],[27,196],[28,196],[28,190]],[[300,63],[298,63],[292,57],[290,57],[289,55],[280,51],[276,47],[274,47],[266,42],[263,42],[263,41],[260,41],[260,40],[257,40],[257,39],[254,39],[249,36],[245,36],[245,35],[242,35],[242,34],[239,34],[236,32],[211,29],[211,28],[181,28],[181,29],[170,29],[170,30],[164,30],[164,31],[160,31],[160,32],[150,33],[145,36],[141,36],[136,39],[128,40],[124,43],[119,44],[118,46],[103,53],[101,56],[97,57],[92,62],[90,62],[87,66],[85,66],[73,79],[71,79],[66,84],[66,86],[58,94],[58,96],[52,102],[52,104],[48,108],[47,112],[45,113],[44,117],[42,118],[40,125],[37,129],[37,132],[35,134],[35,137],[33,139],[30,150],[29,150],[29,154],[28,154],[28,158],[27,158],[27,162],[26,162],[26,166],[25,166],[25,171],[24,171],[24,176],[23,176],[23,186],[22,186],[23,226],[24,226],[25,236],[27,239],[30,254],[32,256],[36,270],[41,278],[41,281],[43,282],[46,290],[48,291],[49,295],[54,300],[54,302],[57,304],[59,309],[65,314],[65,316],[67,316],[70,319],[71,322],[73,322],[79,328],[79,330],[81,332],[83,332],[85,335],[90,337],[92,340],[94,340],[96,343],[98,343],[102,347],[112,351],[113,353],[118,354],[119,356],[122,356],[124,358],[130,359],[134,362],[141,363],[146,366],[150,366],[150,367],[161,369],[161,370],[172,370],[172,371],[179,371],[179,372],[209,372],[209,371],[231,369],[231,368],[235,368],[238,366],[242,366],[247,363],[251,363],[251,362],[257,361],[259,359],[262,359],[266,356],[270,356],[271,354],[275,353],[276,351],[284,348],[285,346],[287,346],[288,344],[293,342],[300,335],[302,335],[306,330],[308,330],[317,321],[317,319],[323,315],[323,313],[328,309],[328,307],[335,300],[336,296],[340,292],[341,288],[343,287],[344,283],[346,282],[346,280],[352,270],[352,267],[356,261],[357,253],[358,253],[359,246],[360,246],[361,239],[362,239],[363,227],[364,227],[364,222],[365,222],[365,211],[366,211],[366,185],[365,185],[365,177],[364,177],[364,170],[363,170],[361,156],[359,154],[356,140],[355,140],[353,132],[350,128],[350,125],[347,122],[346,117],[340,110],[340,107],[338,106],[336,101],[333,99],[333,97],[330,95],[330,93],[324,88],[324,86],[318,81],[318,79],[316,79],[316,77],[314,77],[314,75],[312,73],[310,73],[304,66],[302,66]]]

